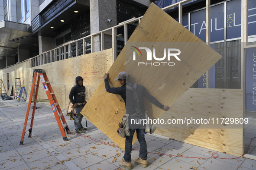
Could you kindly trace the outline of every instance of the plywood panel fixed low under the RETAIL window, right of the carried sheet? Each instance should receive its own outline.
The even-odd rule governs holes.
[[[185,117],[197,123],[194,121],[185,129],[186,125],[177,120]],[[201,118],[204,122],[198,120]],[[210,120],[209,124],[204,118]],[[239,121],[233,122],[233,118]],[[227,154],[243,154],[242,89],[189,88],[159,119],[172,119],[177,124],[158,125],[156,134]]]

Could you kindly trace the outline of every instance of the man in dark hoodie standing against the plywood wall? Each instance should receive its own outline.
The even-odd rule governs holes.
[[[87,128],[82,126],[82,118],[84,117],[80,112],[84,108],[84,105],[87,103],[85,101],[85,87],[83,85],[84,79],[81,76],[75,78],[76,85],[71,88],[69,93],[69,100],[75,107],[77,115],[75,116],[74,124],[75,131],[77,133],[86,132]],[[73,99],[74,96],[74,99]]]

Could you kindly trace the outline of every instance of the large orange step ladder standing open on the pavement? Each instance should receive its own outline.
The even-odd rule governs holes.
[[[36,78],[37,78],[37,83],[36,83]],[[40,79],[41,79],[41,82],[44,86],[44,89],[45,89],[45,92],[46,92],[47,97],[49,99],[49,102],[51,104],[52,111],[53,111],[55,119],[57,120],[57,123],[58,123],[58,127],[59,127],[59,129],[62,133],[63,140],[68,141],[65,130],[68,134],[71,133],[70,130],[68,129],[68,125],[67,125],[66,120],[63,116],[63,113],[62,113],[62,110],[61,110],[61,108],[58,104],[58,101],[55,97],[55,94],[52,90],[52,86],[50,85],[49,79],[46,76],[45,70],[35,69],[34,70],[34,77],[33,77],[32,87],[31,87],[31,92],[30,92],[30,96],[29,96],[29,104],[28,104],[28,108],[27,108],[26,118],[25,118],[25,122],[24,122],[24,126],[23,126],[23,132],[22,132],[22,136],[21,136],[21,140],[19,142],[19,145],[23,145],[24,135],[27,131],[29,131],[29,138],[31,138]],[[36,93],[33,94],[35,86],[36,86]],[[35,96],[34,101],[32,101],[33,96]],[[34,104],[33,104],[32,107],[30,107],[32,102]],[[30,108],[33,108],[33,111],[32,111],[32,117],[29,118]],[[30,128],[26,130],[27,121],[29,119],[31,119]],[[62,120],[62,122],[61,122],[61,120]]]

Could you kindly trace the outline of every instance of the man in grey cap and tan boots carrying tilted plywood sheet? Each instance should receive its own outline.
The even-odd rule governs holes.
[[[156,98],[154,98],[143,85],[138,85],[130,82],[130,78],[127,72],[120,72],[115,79],[115,81],[120,82],[121,87],[110,88],[108,83],[108,74],[104,75],[104,82],[106,91],[113,94],[119,94],[125,101],[126,106],[126,116],[129,121],[129,131],[130,135],[126,136],[125,140],[125,150],[122,161],[120,161],[120,166],[127,169],[132,169],[131,164],[131,151],[133,135],[136,131],[137,138],[139,140],[139,158],[135,160],[135,164],[139,164],[142,167],[147,167],[147,144],[145,140],[145,126],[139,123],[139,120],[145,120],[145,107],[144,107],[144,97],[146,97],[150,102],[161,108],[162,110],[169,110],[169,106],[161,104]],[[126,84],[127,81],[127,84]],[[132,122],[132,120],[135,120]],[[138,120],[138,121],[137,121]],[[127,124],[127,123],[126,123]]]

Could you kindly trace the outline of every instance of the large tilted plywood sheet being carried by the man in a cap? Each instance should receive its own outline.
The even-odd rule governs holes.
[[[169,66],[167,71],[162,66],[145,70],[138,67],[133,69],[134,63],[130,62],[129,58],[127,60],[129,63],[126,63],[126,56],[130,59],[133,56],[133,51],[128,51],[131,47],[127,44],[133,42],[142,42],[138,47],[145,47],[144,45],[147,43],[160,47],[157,44],[159,42],[191,42],[196,43],[196,46],[194,44],[183,46],[179,43],[179,48],[182,49],[181,61],[175,63],[173,67]],[[144,42],[145,44],[143,44]],[[133,81],[144,85],[154,97],[165,105],[172,105],[204,72],[221,58],[217,52],[153,3],[149,6],[128,43],[108,71],[110,86],[120,86],[119,82],[114,81],[114,79],[119,72],[127,70],[129,66],[131,71],[129,71],[129,74]],[[142,54],[142,56],[146,55]],[[137,58],[138,60],[146,60],[145,57]],[[151,81],[152,78],[155,81]],[[125,113],[125,106],[120,96],[106,92],[104,80],[101,79],[100,85],[81,113],[113,142],[124,149],[124,139],[117,134],[117,127]],[[157,91],[156,88],[158,88]],[[159,117],[164,113],[163,110],[155,106],[147,105],[152,107],[154,117]]]

